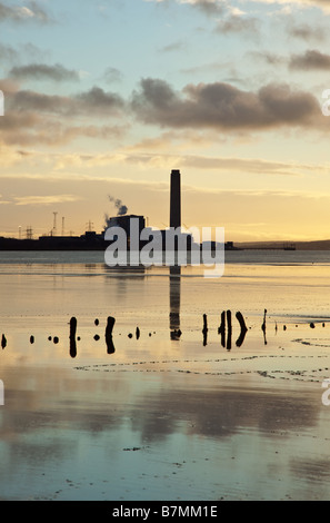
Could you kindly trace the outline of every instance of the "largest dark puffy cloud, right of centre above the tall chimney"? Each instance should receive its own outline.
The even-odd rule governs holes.
[[[133,93],[132,109],[146,124],[219,130],[316,126],[321,112],[312,95],[286,85],[270,83],[252,92],[214,82],[188,85],[176,92],[166,81],[151,78]]]

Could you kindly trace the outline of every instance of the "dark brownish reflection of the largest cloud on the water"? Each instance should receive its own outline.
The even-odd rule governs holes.
[[[142,441],[163,438],[172,433],[174,421],[182,417],[189,420],[190,434],[212,437],[231,436],[239,427],[257,427],[271,435],[278,430],[279,420],[283,431],[311,427],[317,422],[312,401],[308,404],[304,397],[294,398],[292,412],[287,397],[264,392],[261,401],[258,393],[246,388],[162,391],[159,396],[141,398],[141,403],[148,408],[134,411],[132,423]]]

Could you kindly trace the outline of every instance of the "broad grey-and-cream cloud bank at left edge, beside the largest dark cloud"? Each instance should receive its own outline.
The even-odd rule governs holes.
[[[124,100],[98,87],[71,96],[46,95],[21,90],[14,79],[6,79],[0,80],[0,89],[6,98],[0,138],[7,145],[56,146],[80,137],[122,139],[128,130]]]

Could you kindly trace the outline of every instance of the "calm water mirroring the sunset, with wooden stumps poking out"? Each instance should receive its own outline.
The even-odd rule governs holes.
[[[329,276],[328,251],[227,253],[218,279],[1,253],[0,499],[329,500]]]

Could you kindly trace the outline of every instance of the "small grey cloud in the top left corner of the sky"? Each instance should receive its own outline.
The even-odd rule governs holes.
[[[39,23],[50,23],[51,17],[36,1],[30,0],[24,6],[8,4],[0,1],[0,22],[11,20],[13,22],[37,21]]]

